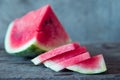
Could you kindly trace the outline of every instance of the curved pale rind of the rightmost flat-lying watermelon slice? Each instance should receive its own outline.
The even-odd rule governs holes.
[[[83,73],[83,74],[95,74],[95,73],[101,73],[107,70],[104,59],[100,60],[99,68],[96,68],[96,69],[88,69],[78,65],[69,66],[66,69]]]

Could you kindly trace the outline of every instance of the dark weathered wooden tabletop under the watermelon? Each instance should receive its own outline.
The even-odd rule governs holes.
[[[0,50],[0,80],[120,80],[120,43],[86,45],[92,55],[103,54],[107,71],[84,75],[64,70],[54,72],[44,65],[34,66],[29,58],[15,57]]]

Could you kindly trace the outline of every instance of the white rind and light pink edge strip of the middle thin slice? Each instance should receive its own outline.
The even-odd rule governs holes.
[[[74,53],[73,53],[74,54]],[[76,56],[73,56],[71,58],[68,58],[66,60],[63,60],[61,62],[55,62],[52,60],[48,60],[44,62],[44,65],[56,72],[65,69],[68,66],[74,65],[78,62],[84,61],[86,59],[90,58],[90,54],[89,52],[85,52],[85,53],[80,53]]]

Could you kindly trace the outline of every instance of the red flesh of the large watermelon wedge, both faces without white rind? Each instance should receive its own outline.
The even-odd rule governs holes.
[[[31,11],[13,22],[10,33],[12,48],[19,48],[32,39],[46,51],[70,42],[50,5]]]

